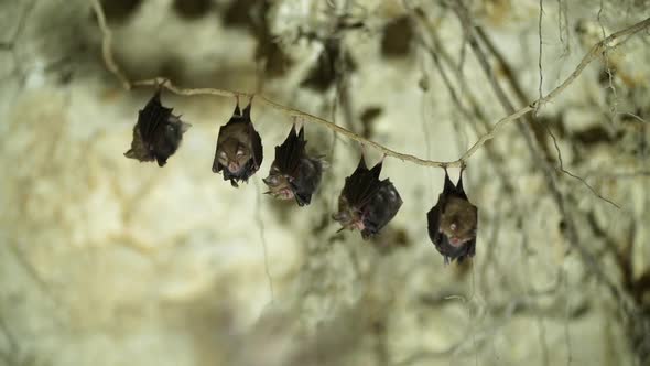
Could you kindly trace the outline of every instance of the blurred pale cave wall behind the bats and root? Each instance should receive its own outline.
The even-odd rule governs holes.
[[[101,7],[130,80],[260,93],[437,161],[650,15],[644,0]],[[329,168],[310,206],[274,201],[261,177],[292,120],[262,104],[264,162],[239,189],[210,171],[234,98],[163,92],[193,125],[180,150],[162,169],[124,158],[153,89],[107,69],[97,20],[91,1],[0,0],[1,365],[648,365],[647,29],[467,161],[476,257],[444,266],[425,219],[443,170],[387,158],[400,212],[371,240],[337,233],[359,144],[306,123]]]

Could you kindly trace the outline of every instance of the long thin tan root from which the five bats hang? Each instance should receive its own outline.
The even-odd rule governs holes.
[[[165,88],[167,88],[172,93],[177,94],[177,95],[184,95],[184,96],[214,95],[214,96],[219,96],[219,97],[246,96],[248,98],[252,98],[254,96],[257,103],[260,103],[260,104],[263,104],[263,105],[271,107],[273,109],[280,110],[280,111],[284,112],[285,115],[288,115],[289,117],[300,118],[304,122],[311,122],[311,123],[315,123],[315,125],[319,125],[322,127],[325,127],[325,128],[334,131],[335,133],[343,134],[353,141],[357,141],[357,142],[361,143],[362,146],[367,146],[372,149],[379,150],[380,152],[382,152],[387,157],[391,157],[391,158],[394,158],[394,159],[398,159],[398,160],[401,160],[404,162],[410,162],[410,163],[422,165],[422,166],[435,166],[435,168],[461,168],[463,165],[466,165],[467,160],[472,155],[474,155],[474,153],[476,153],[476,151],[478,151],[478,149],[480,149],[487,141],[494,139],[496,137],[498,130],[503,128],[506,125],[509,125],[510,122],[518,121],[522,116],[526,116],[527,114],[538,110],[539,108],[543,107],[546,103],[549,103],[552,99],[554,99],[555,97],[557,97],[562,92],[564,92],[564,89],[566,89],[571,84],[573,84],[573,82],[575,82],[577,79],[577,77],[582,74],[582,72],[594,60],[599,58],[603,55],[605,55],[607,52],[620,46],[621,44],[627,42],[631,35],[650,28],[650,18],[647,18],[643,21],[640,21],[629,28],[626,28],[621,31],[613,33],[608,37],[603,39],[600,42],[596,43],[589,50],[589,52],[587,52],[587,54],[583,57],[581,63],[575,67],[573,73],[571,73],[571,75],[568,75],[568,77],[566,77],[566,79],[564,82],[562,82],[562,84],[560,84],[557,87],[555,87],[549,94],[546,94],[546,96],[538,98],[537,100],[530,103],[528,106],[524,106],[524,107],[520,108],[519,110],[516,110],[511,115],[501,118],[499,121],[497,121],[495,125],[492,125],[492,127],[489,129],[489,131],[487,133],[483,134],[461,158],[458,158],[457,160],[454,160],[454,161],[444,162],[444,161],[426,160],[426,159],[422,159],[422,158],[411,155],[408,153],[402,153],[402,152],[391,150],[382,144],[379,144],[375,141],[371,141],[371,140],[368,140],[364,137],[360,137],[360,136],[354,133],[353,131],[347,130],[347,129],[345,129],[336,123],[333,123],[326,119],[310,115],[310,114],[301,111],[299,109],[286,107],[284,105],[281,105],[279,103],[275,103],[275,101],[264,97],[261,94],[235,92],[235,90],[218,89],[218,88],[181,88],[181,87],[174,85],[172,83],[172,80],[170,80],[169,78],[163,78],[163,77],[155,77],[152,79],[130,82],[129,78],[121,71],[121,68],[118,66],[118,64],[115,62],[115,58],[112,56],[112,52],[111,52],[112,34],[106,23],[106,17],[104,14],[104,9],[101,8],[99,0],[93,0],[93,9],[97,15],[97,22],[99,24],[99,29],[102,34],[101,51],[102,51],[102,56],[104,56],[104,62],[106,64],[106,67],[108,68],[108,71],[110,73],[112,73],[121,82],[122,86],[127,90],[131,89],[132,87],[138,87],[138,86],[155,86],[156,84],[161,84],[162,86],[164,86]],[[290,120],[293,121],[293,119],[290,119]]]

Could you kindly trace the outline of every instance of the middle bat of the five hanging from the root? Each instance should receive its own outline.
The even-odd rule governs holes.
[[[269,176],[262,180],[269,186],[268,194],[280,200],[295,198],[301,207],[310,204],[323,175],[323,161],[308,157],[306,144],[304,129],[301,127],[296,133],[294,125],[284,142],[275,147],[275,160]]]

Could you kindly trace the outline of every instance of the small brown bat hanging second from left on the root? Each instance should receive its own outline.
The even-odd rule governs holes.
[[[224,171],[224,181],[237,187],[239,181],[248,182],[262,164],[262,139],[250,120],[251,103],[239,110],[239,98],[232,117],[219,129],[213,172]]]

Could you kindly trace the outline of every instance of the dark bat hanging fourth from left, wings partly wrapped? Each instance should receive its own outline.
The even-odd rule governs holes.
[[[364,155],[353,175],[345,179],[338,197],[338,213],[333,218],[343,229],[358,229],[364,239],[376,235],[402,206],[402,198],[390,180],[379,180],[379,162],[368,170]]]

